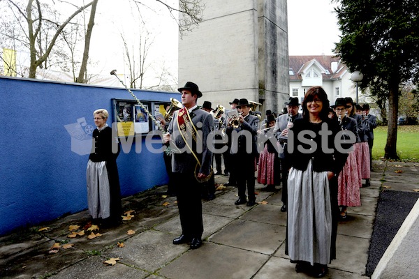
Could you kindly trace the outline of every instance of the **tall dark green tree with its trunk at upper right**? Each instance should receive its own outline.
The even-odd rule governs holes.
[[[340,42],[336,53],[351,71],[360,70],[362,88],[388,101],[385,158],[397,156],[398,98],[406,82],[419,80],[418,0],[332,0],[337,3]]]

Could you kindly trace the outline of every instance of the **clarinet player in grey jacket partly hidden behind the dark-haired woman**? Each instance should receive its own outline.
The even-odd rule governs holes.
[[[287,188],[287,179],[288,179],[288,169],[289,165],[286,163],[288,160],[285,160],[286,156],[286,137],[288,135],[288,126],[291,126],[295,119],[302,118],[302,114],[298,112],[300,108],[300,103],[298,103],[297,97],[290,97],[289,101],[285,103],[286,105],[286,114],[282,114],[277,117],[277,123],[275,123],[274,135],[279,140],[282,148],[284,149],[283,153],[279,154],[281,167],[281,182],[282,182],[282,197],[281,201],[283,203],[281,207],[281,212],[286,212],[286,207],[288,206],[288,188]]]

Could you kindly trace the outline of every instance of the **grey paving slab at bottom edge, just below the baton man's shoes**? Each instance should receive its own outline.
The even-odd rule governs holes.
[[[170,279],[251,278],[269,256],[216,243],[204,243],[164,266],[159,274]]]

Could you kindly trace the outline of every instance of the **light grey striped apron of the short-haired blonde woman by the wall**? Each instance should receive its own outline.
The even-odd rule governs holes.
[[[108,218],[110,216],[110,189],[106,162],[89,160],[86,170],[87,204],[92,218]]]

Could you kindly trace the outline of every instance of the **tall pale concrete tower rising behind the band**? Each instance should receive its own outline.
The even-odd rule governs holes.
[[[280,112],[289,98],[286,0],[203,0],[203,22],[179,38],[179,86],[196,82],[204,100],[234,98]]]

